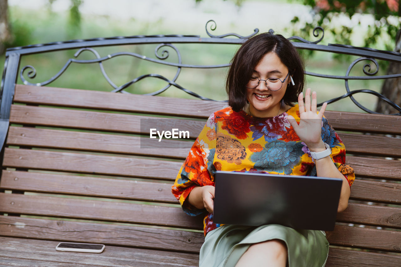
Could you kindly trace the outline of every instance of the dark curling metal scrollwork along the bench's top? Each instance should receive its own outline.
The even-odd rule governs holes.
[[[217,27],[217,24],[214,20],[209,20],[206,25],[206,32],[211,38],[201,38],[200,36],[195,36],[195,35],[152,35],[152,36],[144,36],[144,35],[138,35],[138,36],[128,36],[128,37],[112,37],[112,38],[94,38],[93,40],[72,40],[72,41],[66,41],[66,42],[54,42],[54,43],[49,43],[49,44],[38,44],[38,45],[30,45],[28,47],[20,47],[20,48],[15,48],[13,50],[24,50],[24,49],[30,49],[29,53],[39,53],[43,51],[47,51],[44,49],[47,49],[47,47],[52,47],[52,46],[59,46],[63,45],[62,49],[71,49],[72,46],[76,46],[77,49],[79,49],[75,54],[74,57],[71,59],[68,59],[68,61],[65,63],[65,65],[60,69],[59,72],[57,72],[53,77],[48,79],[47,81],[43,81],[40,83],[30,83],[28,82],[29,79],[34,79],[36,77],[36,69],[31,66],[31,65],[26,65],[20,70],[20,78],[22,82],[26,85],[35,85],[35,86],[43,86],[47,85],[53,81],[55,81],[57,78],[59,78],[65,70],[71,65],[71,63],[79,63],[79,64],[92,64],[92,63],[97,63],[99,64],[99,68],[101,70],[101,73],[103,77],[107,80],[107,82],[111,85],[112,87],[112,92],[120,92],[120,93],[130,93],[126,91],[128,87],[133,85],[134,83],[137,83],[138,81],[141,81],[143,79],[159,79],[165,81],[167,84],[162,88],[162,89],[156,89],[156,91],[152,93],[146,93],[146,95],[158,95],[164,91],[166,91],[168,88],[171,86],[178,88],[179,90],[182,90],[194,97],[197,97],[199,99],[204,99],[204,100],[213,100],[209,99],[207,97],[203,97],[201,95],[198,95],[197,93],[194,93],[181,85],[177,83],[178,76],[180,75],[182,68],[197,68],[197,69],[213,69],[213,68],[222,68],[222,67],[229,67],[230,63],[225,63],[225,64],[217,64],[217,65],[194,65],[194,64],[183,64],[182,63],[182,56],[179,51],[179,49],[172,43],[223,43],[223,44],[241,44],[243,40],[250,38],[251,36],[254,36],[259,32],[258,29],[255,29],[254,32],[248,36],[241,36],[239,34],[235,33],[228,33],[228,34],[223,34],[223,35],[213,35],[209,32],[208,27],[210,27],[210,30],[215,30]],[[274,33],[274,31],[271,29],[269,30],[271,34]],[[345,88],[346,88],[346,93],[344,95],[341,95],[339,97],[330,99],[326,102],[328,103],[333,103],[336,102],[340,99],[344,99],[346,97],[349,97],[353,103],[358,106],[360,109],[368,112],[368,113],[377,113],[375,111],[372,111],[363,105],[361,105],[358,101],[354,99],[354,95],[356,93],[368,93],[371,95],[375,95],[376,97],[379,97],[379,99],[382,99],[383,101],[387,102],[391,107],[395,108],[399,113],[395,113],[392,115],[401,115],[401,108],[395,104],[393,101],[390,99],[384,97],[380,93],[369,90],[369,89],[357,89],[357,90],[350,90],[350,86],[348,84],[349,80],[371,80],[371,79],[394,79],[394,78],[399,78],[401,77],[401,73],[397,74],[391,74],[391,75],[377,75],[379,73],[379,60],[387,60],[387,61],[395,61],[395,62],[401,62],[401,54],[395,53],[395,52],[389,52],[389,51],[380,51],[380,50],[375,50],[375,49],[369,49],[369,48],[363,48],[363,47],[352,47],[349,45],[341,45],[341,44],[329,44],[329,45],[320,45],[318,44],[322,39],[324,38],[324,30],[322,27],[316,27],[313,29],[313,35],[316,38],[319,38],[316,41],[308,41],[305,40],[304,38],[301,38],[299,36],[292,36],[288,38],[288,40],[298,40],[296,42],[293,42],[295,47],[298,47],[300,49],[310,49],[310,50],[318,50],[318,51],[325,51],[325,52],[330,52],[330,53],[338,53],[338,54],[348,54],[348,55],[356,55],[359,58],[354,60],[348,67],[345,75],[327,75],[327,74],[320,74],[320,73],[313,73],[306,71],[306,75],[311,75],[311,76],[316,76],[316,77],[322,77],[322,78],[329,78],[329,79],[342,79],[345,82]],[[227,36],[235,36],[237,38],[224,38]],[[157,40],[156,40],[157,39]],[[124,40],[124,44],[155,44],[156,48],[154,49],[154,56],[152,57],[147,57],[145,55],[140,55],[137,53],[131,53],[131,52],[117,52],[109,55],[105,55],[101,57],[101,55],[92,47],[96,46],[104,46],[104,45],[117,45],[119,44],[120,40]],[[92,42],[95,42],[95,45],[92,46]],[[96,43],[99,42],[99,43]],[[79,43],[79,46],[77,44]],[[65,44],[68,44],[68,47],[65,46]],[[54,51],[60,50],[61,48],[57,47],[57,49],[53,49]],[[52,50],[52,51],[53,51]],[[83,51],[89,51],[94,55],[93,59],[89,60],[81,60],[78,59],[78,57],[81,55]],[[172,52],[174,51],[174,52]],[[26,53],[26,54],[29,54]],[[174,57],[170,57],[170,53],[176,53],[177,59]],[[141,60],[145,61],[150,61],[152,63],[157,63],[157,64],[162,64],[170,67],[176,67],[176,72],[174,77],[164,77],[162,75],[156,74],[156,73],[149,73],[149,74],[144,74],[140,75],[134,79],[131,79],[130,81],[122,84],[122,85],[116,85],[113,83],[113,81],[110,79],[110,77],[107,75],[104,67],[103,67],[103,62],[112,59],[114,57],[121,57],[121,56],[129,56],[129,57],[135,57]],[[174,58],[174,60],[169,60],[170,58]],[[351,70],[354,68],[354,66],[361,62],[361,61],[369,61],[369,63],[365,63],[362,68],[363,74],[359,76],[350,76]],[[375,65],[375,66],[373,66]],[[7,67],[7,57],[5,61],[5,68]],[[376,68],[376,69],[374,69]],[[3,79],[1,81],[0,85],[0,90],[4,83],[4,75]],[[322,105],[320,103],[319,105]]]

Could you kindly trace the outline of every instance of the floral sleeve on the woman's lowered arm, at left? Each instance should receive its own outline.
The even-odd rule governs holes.
[[[205,209],[197,209],[191,206],[186,198],[195,186],[214,186],[213,159],[216,150],[216,121],[215,115],[211,115],[196,138],[188,157],[182,164],[177,174],[172,193],[179,200],[182,209],[191,216],[205,212]]]

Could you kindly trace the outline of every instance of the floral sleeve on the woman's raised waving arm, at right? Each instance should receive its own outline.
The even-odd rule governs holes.
[[[330,157],[342,175],[347,178],[348,184],[351,186],[355,180],[355,174],[352,167],[345,164],[345,146],[325,117],[322,119],[322,140],[330,145],[332,151]]]

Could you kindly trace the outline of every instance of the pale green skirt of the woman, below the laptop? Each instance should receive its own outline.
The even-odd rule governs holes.
[[[326,264],[329,244],[323,231],[295,230],[282,225],[223,225],[207,233],[199,266],[234,267],[252,244],[272,239],[286,243],[289,267],[323,267]]]

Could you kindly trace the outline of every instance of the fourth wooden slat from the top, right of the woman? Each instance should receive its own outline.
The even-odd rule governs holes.
[[[401,184],[356,180],[351,187],[351,199],[401,204]]]

